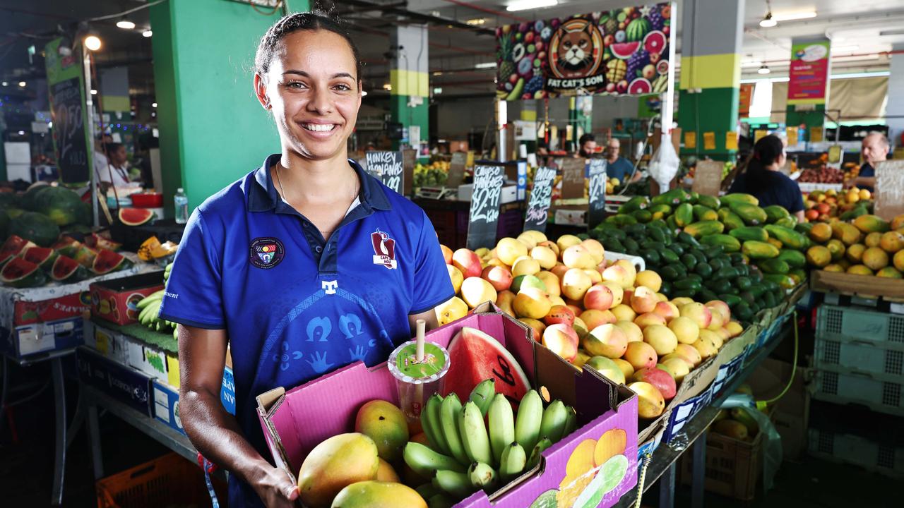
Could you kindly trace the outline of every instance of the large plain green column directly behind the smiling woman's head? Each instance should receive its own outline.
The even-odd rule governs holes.
[[[292,0],[292,10],[308,8]],[[259,9],[262,10],[262,9]],[[150,8],[165,210],[183,187],[193,209],[279,152],[253,88],[254,53],[281,11],[223,0],[169,0]]]

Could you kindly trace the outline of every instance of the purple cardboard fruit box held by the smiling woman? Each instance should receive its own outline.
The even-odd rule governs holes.
[[[494,494],[472,494],[457,503],[458,508],[570,506],[579,500],[581,505],[606,507],[636,485],[637,397],[631,390],[597,372],[578,372],[549,351],[541,353],[530,330],[491,303],[429,332],[427,340],[447,347],[465,326],[493,336],[522,365],[533,386],[549,390],[551,399],[572,405],[579,428],[543,452],[534,468]],[[355,362],[297,388],[260,394],[258,416],[276,465],[295,478],[306,455],[327,437],[351,432],[358,409],[373,399],[398,402],[396,382],[386,363],[368,368]],[[613,448],[606,454],[612,457],[606,467],[594,464],[598,447]],[[586,471],[580,467],[579,472],[566,474],[567,465],[572,464],[572,469],[585,462]]]

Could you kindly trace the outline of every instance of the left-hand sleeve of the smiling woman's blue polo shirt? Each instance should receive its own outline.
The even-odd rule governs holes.
[[[222,264],[213,233],[198,210],[185,225],[166,283],[160,317],[182,325],[226,327],[222,307]]]

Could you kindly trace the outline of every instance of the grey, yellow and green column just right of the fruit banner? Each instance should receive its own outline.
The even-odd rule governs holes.
[[[729,160],[736,151],[726,147],[726,137],[738,128],[744,0],[684,0],[681,17],[678,126],[683,141],[687,133],[696,138],[695,147],[682,144],[681,154]],[[709,149],[707,133],[714,137]]]

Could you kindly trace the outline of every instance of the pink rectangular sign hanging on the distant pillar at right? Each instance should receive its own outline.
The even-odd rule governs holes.
[[[831,43],[828,39],[792,41],[788,104],[825,104]]]

